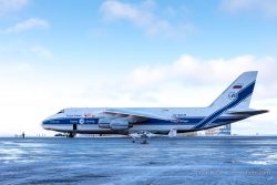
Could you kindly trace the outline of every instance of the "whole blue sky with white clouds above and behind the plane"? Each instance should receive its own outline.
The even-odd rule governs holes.
[[[250,70],[270,113],[233,133],[277,134],[275,0],[0,0],[0,135],[49,135],[63,107],[207,106]]]

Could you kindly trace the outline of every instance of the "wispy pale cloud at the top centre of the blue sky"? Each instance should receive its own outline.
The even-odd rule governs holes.
[[[178,32],[184,33],[194,30],[194,27],[189,22],[176,21],[177,19],[174,17],[176,11],[173,8],[166,8],[164,10],[164,14],[167,14],[167,18],[161,18],[155,14],[154,8],[154,1],[145,1],[142,4],[131,4],[117,0],[106,0],[101,6],[101,12],[106,20],[129,21],[144,30],[148,35],[162,34],[172,37]],[[170,18],[175,20],[174,24],[170,21]]]

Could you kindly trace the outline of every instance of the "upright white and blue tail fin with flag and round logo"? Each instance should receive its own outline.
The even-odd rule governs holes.
[[[209,106],[218,109],[236,102],[234,109],[248,109],[257,73],[249,71],[240,74]]]

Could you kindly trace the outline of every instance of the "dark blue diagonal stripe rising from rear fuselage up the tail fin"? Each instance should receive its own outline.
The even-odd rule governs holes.
[[[237,105],[238,103],[240,103],[242,101],[244,101],[245,99],[247,99],[254,90],[255,86],[255,81],[252,82],[248,86],[246,86],[245,89],[240,90],[237,94],[237,99],[234,100],[233,102],[230,102],[229,104],[227,104],[226,106],[217,110],[216,112],[214,112],[213,114],[211,114],[209,116],[207,116],[206,119],[204,119],[202,122],[199,122],[199,124],[197,124],[196,126],[194,126],[194,130],[198,130],[201,127],[204,127],[206,124],[209,124],[211,122],[213,122],[215,119],[217,119],[219,115],[222,115],[225,111],[227,111],[230,107],[234,107],[235,105]]]

